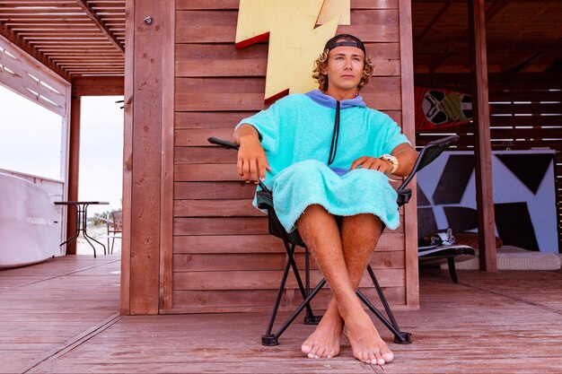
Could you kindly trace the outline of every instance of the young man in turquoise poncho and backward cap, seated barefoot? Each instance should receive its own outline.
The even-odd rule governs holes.
[[[358,95],[372,74],[363,42],[337,35],[315,63],[320,90],[289,95],[242,119],[233,140],[240,144],[238,173],[272,190],[279,221],[298,228],[333,292],[303,353],[337,356],[345,326],[354,357],[383,365],[393,354],[355,291],[382,222],[399,225],[388,176],[408,175],[417,152],[390,117],[366,108]]]

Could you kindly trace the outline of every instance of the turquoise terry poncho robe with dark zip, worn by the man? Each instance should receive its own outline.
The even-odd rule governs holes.
[[[264,183],[273,192],[277,217],[285,230],[294,230],[311,204],[321,204],[335,215],[373,213],[396,229],[400,223],[397,195],[386,175],[356,169],[339,176],[334,170],[349,170],[361,156],[391,153],[399,144],[409,143],[408,139],[391,117],[366,108],[360,96],[342,100],[338,149],[328,167],[335,108],[336,100],[321,91],[296,93],[242,119],[236,128],[248,124],[258,130],[271,167]]]

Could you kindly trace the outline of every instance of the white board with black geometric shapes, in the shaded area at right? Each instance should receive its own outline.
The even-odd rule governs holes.
[[[495,151],[496,236],[505,245],[558,253],[554,151]],[[443,152],[417,174],[418,236],[451,227],[478,232],[473,152]]]

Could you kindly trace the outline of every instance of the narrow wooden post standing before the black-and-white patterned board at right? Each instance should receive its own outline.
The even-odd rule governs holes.
[[[487,96],[486,17],[484,0],[469,0],[470,73],[472,112],[474,113],[474,155],[476,163],[476,201],[479,213],[480,270],[495,272],[496,239],[494,191],[492,188],[492,147]]]

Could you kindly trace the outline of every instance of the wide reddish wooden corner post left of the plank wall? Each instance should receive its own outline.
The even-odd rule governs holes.
[[[164,1],[127,0],[121,313],[157,314]]]

